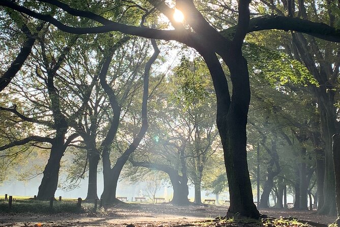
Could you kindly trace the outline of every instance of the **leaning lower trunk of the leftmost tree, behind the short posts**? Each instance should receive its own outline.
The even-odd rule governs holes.
[[[60,160],[65,152],[64,140],[56,140],[52,145],[50,157],[43,172],[37,200],[50,200],[58,186]]]

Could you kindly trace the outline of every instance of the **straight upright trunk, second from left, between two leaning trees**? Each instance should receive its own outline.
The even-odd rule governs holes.
[[[100,154],[97,149],[92,148],[87,151],[88,155],[88,186],[85,200],[98,199],[97,194],[97,169]]]

